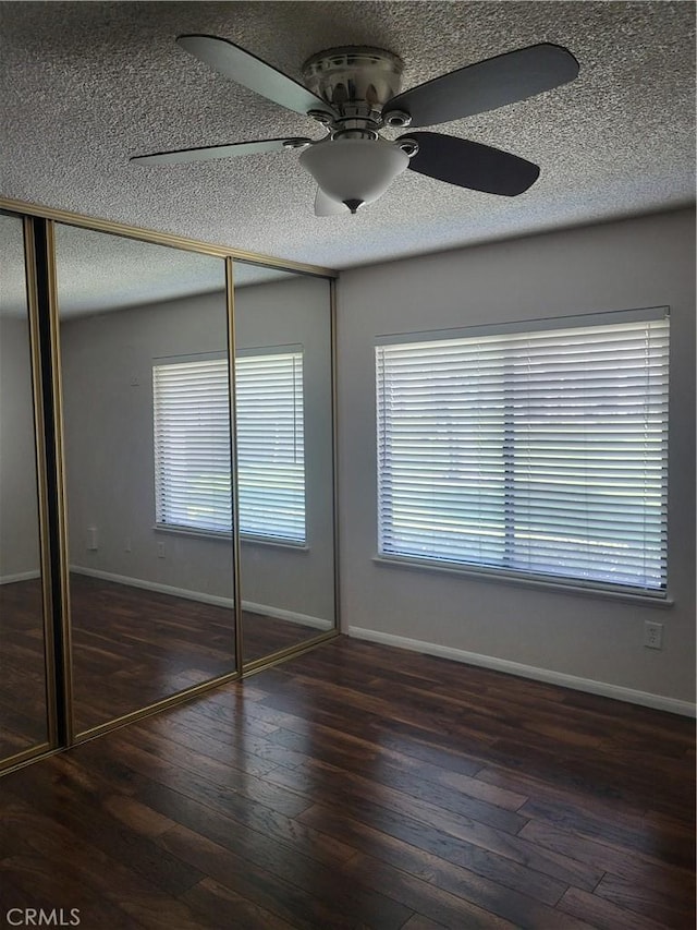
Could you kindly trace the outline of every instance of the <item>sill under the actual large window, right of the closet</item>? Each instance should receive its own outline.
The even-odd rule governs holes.
[[[480,568],[467,568],[454,565],[438,565],[432,561],[420,559],[375,555],[372,561],[386,568],[417,569],[418,571],[433,571],[439,575],[456,575],[472,578],[475,581],[488,581],[494,584],[511,584],[517,588],[533,588],[539,591],[550,591],[555,594],[573,594],[582,597],[598,597],[604,601],[615,601],[625,604],[635,604],[640,607],[657,607],[665,609],[675,603],[670,597],[651,594],[634,594],[627,590],[613,591],[609,588],[591,588],[583,583],[551,581],[541,578],[509,575],[504,571],[491,569],[487,571]]]

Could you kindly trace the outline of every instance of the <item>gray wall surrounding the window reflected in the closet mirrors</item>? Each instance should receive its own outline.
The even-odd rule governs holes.
[[[305,347],[308,551],[243,544],[244,601],[333,619],[328,285],[294,278],[235,294],[237,346]],[[325,327],[325,328],[323,328]],[[224,351],[224,295],[69,319],[61,327],[71,564],[232,597],[229,540],[157,531],[152,361]],[[323,350],[323,351],[322,351]],[[329,432],[328,432],[329,431]],[[329,468],[329,470],[327,470]],[[96,528],[98,548],[88,548]],[[158,557],[158,544],[164,557]],[[130,551],[126,547],[130,546]]]

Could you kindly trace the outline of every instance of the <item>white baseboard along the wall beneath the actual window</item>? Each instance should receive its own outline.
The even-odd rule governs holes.
[[[678,701],[675,698],[667,698],[663,695],[651,695],[648,691],[637,691],[633,688],[610,685],[606,681],[594,681],[590,678],[579,678],[576,675],[566,675],[563,672],[552,672],[548,668],[536,668],[533,665],[510,662],[508,659],[480,655],[476,652],[466,652],[463,649],[423,642],[418,639],[408,639],[407,637],[379,632],[378,630],[369,630],[362,627],[350,626],[347,633],[356,639],[365,639],[370,642],[381,643],[382,645],[395,645],[399,649],[409,649],[414,652],[423,652],[426,655],[452,659],[454,662],[479,665],[482,668],[491,668],[494,672],[506,672],[510,675],[533,678],[536,681],[545,681],[548,685],[561,685],[563,688],[573,688],[575,691],[587,691],[591,695],[613,698],[615,701],[627,701],[631,704],[641,704],[643,706],[653,708],[658,711],[669,711],[670,713],[682,714],[683,716],[695,716],[696,712],[695,704],[690,704],[689,701]]]

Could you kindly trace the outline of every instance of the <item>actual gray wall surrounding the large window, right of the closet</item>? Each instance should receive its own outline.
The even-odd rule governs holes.
[[[694,212],[681,210],[342,274],[340,568],[348,631],[617,697],[643,699],[636,691],[669,699],[658,705],[694,701]],[[376,336],[665,304],[672,321],[672,607],[374,560]],[[664,625],[662,651],[644,648],[645,620]]]

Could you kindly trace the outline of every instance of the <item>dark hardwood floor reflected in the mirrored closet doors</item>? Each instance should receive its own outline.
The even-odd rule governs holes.
[[[233,612],[71,575],[75,730],[234,671]],[[243,612],[245,662],[311,627]],[[0,759],[46,739],[40,581],[0,585]]]

